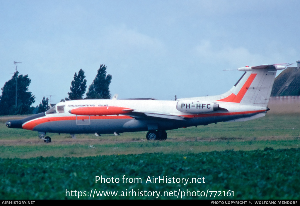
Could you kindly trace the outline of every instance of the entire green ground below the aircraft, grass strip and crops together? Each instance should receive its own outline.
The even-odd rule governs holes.
[[[166,141],[135,132],[47,134],[52,142],[44,143],[6,121],[0,117],[0,199],[300,198],[298,113],[181,128]],[[96,183],[101,175],[110,182]]]

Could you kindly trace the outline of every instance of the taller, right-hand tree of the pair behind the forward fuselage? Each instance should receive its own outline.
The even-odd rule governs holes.
[[[101,64],[93,83],[88,88],[85,99],[110,99],[109,86],[111,80],[112,75],[106,76],[106,66]]]

